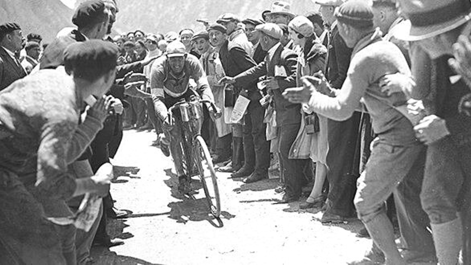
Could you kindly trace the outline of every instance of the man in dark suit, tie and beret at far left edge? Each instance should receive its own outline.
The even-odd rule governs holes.
[[[0,25],[0,91],[15,80],[26,76],[15,53],[23,49],[26,40],[21,28],[14,22]]]

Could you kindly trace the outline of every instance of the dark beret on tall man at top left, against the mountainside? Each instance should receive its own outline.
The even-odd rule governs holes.
[[[79,28],[105,22],[109,19],[105,3],[102,0],[82,2],[72,17],[72,23]]]

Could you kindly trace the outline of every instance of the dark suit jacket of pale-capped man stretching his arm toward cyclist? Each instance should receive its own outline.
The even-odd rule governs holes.
[[[269,62],[264,60],[257,66],[254,66],[235,77],[235,83],[237,85],[245,86],[246,84],[253,82],[253,80],[258,80],[260,76],[275,76],[275,66],[282,66],[284,68],[286,76],[276,77],[279,89],[273,90],[273,99],[275,100],[276,109],[276,124],[278,126],[301,122],[301,105],[289,102],[284,99],[282,95],[286,88],[296,86],[297,58],[298,55],[294,53],[294,51],[285,49],[283,45],[280,45]]]

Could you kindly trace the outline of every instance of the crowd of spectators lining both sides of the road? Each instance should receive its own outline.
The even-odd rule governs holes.
[[[471,264],[471,2],[314,3],[112,38],[115,0],[88,0],[49,45],[0,25],[0,264],[84,264],[93,242],[122,244],[106,232],[106,218],[126,216],[109,193],[110,157],[130,129],[154,130],[170,155],[167,81],[202,93],[201,80],[158,80],[159,58],[179,45],[222,110],[206,109],[201,129],[220,172],[279,178],[277,203],[302,200],[324,224],[360,219],[373,245],[351,264],[454,265],[460,252]],[[89,231],[46,219],[70,216],[85,193],[103,197]]]

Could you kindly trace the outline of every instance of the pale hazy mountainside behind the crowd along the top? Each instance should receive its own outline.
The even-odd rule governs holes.
[[[81,2],[83,0],[78,0]],[[182,28],[203,30],[197,18],[216,18],[226,12],[241,18],[261,18],[273,0],[118,0],[120,12],[114,27],[116,33],[141,29],[144,32],[179,32]],[[288,0],[295,14],[305,14],[316,9],[311,0]],[[76,3],[77,5],[78,3]],[[60,0],[0,0],[0,23],[16,21],[24,35],[40,33],[50,42],[56,33],[71,26],[73,10]]]

